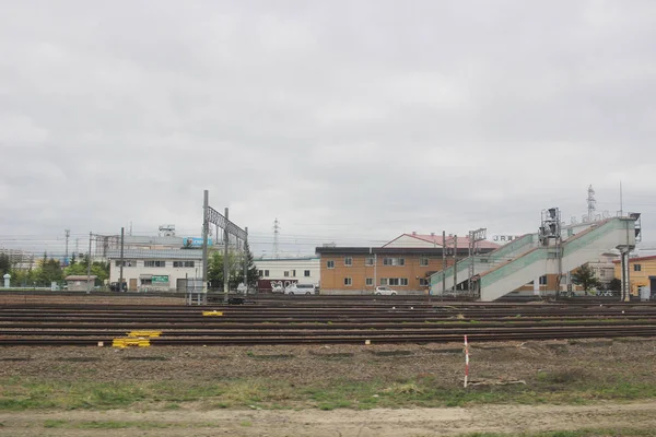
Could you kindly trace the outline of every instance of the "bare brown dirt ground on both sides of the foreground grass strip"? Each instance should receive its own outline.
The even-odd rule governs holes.
[[[539,373],[573,375],[572,383],[616,380],[656,386],[656,340],[507,342],[471,345],[473,379],[538,382]],[[4,347],[0,381],[94,381],[203,385],[218,380],[274,380],[290,390],[379,381],[382,387],[431,376],[459,390],[461,344],[306,345],[254,347]],[[560,373],[560,374],[559,374]],[[578,378],[578,379],[577,379]],[[569,380],[553,381],[559,389]],[[290,388],[291,387],[291,388]],[[587,386],[586,386],[587,387]],[[0,400],[3,387],[0,386]],[[5,391],[7,393],[7,391]],[[567,393],[561,393],[567,395]],[[530,395],[530,393],[529,393]],[[7,394],[5,398],[7,399]],[[551,398],[549,398],[551,399]],[[562,399],[562,398],[561,398]],[[284,400],[281,402],[285,402]],[[175,410],[143,402],[98,411],[82,409],[0,410],[7,436],[454,436],[473,432],[563,430],[631,427],[656,429],[656,400],[643,397],[599,400],[585,405],[465,404],[465,408],[367,408],[355,403],[320,411],[305,401],[285,408],[232,404],[211,408],[179,402]],[[536,402],[539,403],[539,402]],[[425,404],[424,404],[425,405]],[[388,405],[385,405],[388,406]],[[396,406],[396,405],[393,405]],[[82,425],[83,426],[82,426]],[[79,426],[80,425],[80,426]],[[108,429],[109,428],[109,429]]]

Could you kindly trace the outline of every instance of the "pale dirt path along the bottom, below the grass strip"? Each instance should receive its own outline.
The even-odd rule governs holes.
[[[605,402],[594,406],[493,405],[370,411],[26,412],[0,413],[0,423],[3,436],[414,437],[475,432],[656,429],[656,401]],[[90,425],[98,428],[89,428]]]

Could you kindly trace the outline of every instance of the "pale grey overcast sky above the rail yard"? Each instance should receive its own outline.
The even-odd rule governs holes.
[[[656,2],[0,0],[0,246],[199,235],[271,251],[642,211]],[[656,245],[656,243],[655,243]]]

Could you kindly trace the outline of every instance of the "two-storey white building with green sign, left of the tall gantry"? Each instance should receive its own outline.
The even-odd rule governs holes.
[[[109,282],[119,282],[120,250],[109,249]],[[129,291],[184,292],[187,283],[202,284],[202,250],[166,249],[124,251],[124,282]],[[194,281],[194,280],[197,281]],[[191,286],[191,285],[190,285]]]

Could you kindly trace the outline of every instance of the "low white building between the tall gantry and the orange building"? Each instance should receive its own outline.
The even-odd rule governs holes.
[[[258,291],[267,293],[272,287],[285,287],[293,283],[320,285],[318,257],[260,258],[255,260],[260,280]]]

